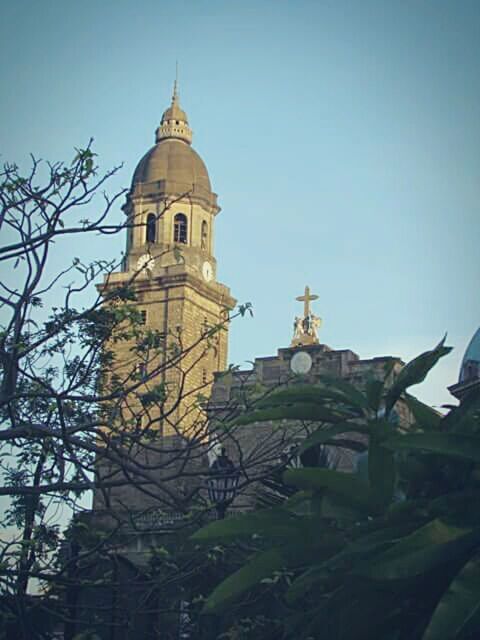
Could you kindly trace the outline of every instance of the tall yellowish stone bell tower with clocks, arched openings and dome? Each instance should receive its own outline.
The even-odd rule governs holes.
[[[217,281],[214,225],[220,207],[191,142],[175,82],[155,145],[138,163],[123,207],[132,225],[124,270],[104,285],[107,290],[130,283],[141,322],[164,340],[165,361],[179,350],[185,353],[145,385],[147,391],[153,383],[165,387],[163,414],[168,417],[157,421],[164,435],[187,431],[198,420],[199,394],[209,396],[214,372],[227,365],[228,327],[212,339],[199,339],[206,329],[223,322],[236,303]],[[128,345],[116,347],[116,356],[127,362]]]

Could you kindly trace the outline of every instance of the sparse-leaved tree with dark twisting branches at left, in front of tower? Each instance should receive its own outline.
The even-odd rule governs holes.
[[[145,324],[136,288],[146,267],[119,286],[113,274],[123,258],[81,257],[90,237],[144,226],[117,220],[124,192],[103,192],[116,171],[100,172],[90,144],[70,163],[32,158],[29,173],[13,164],[0,173],[0,637],[48,637],[54,624],[69,640],[92,628],[111,637],[120,619],[133,624],[138,608],[149,633],[170,617],[175,635],[185,581],[200,582],[215,556],[184,550],[181,540],[212,510],[201,487],[207,456],[227,432],[209,439],[209,383],[187,389],[185,381],[251,305],[204,324],[192,342]],[[174,202],[159,203],[158,216]],[[178,248],[172,253],[181,261]],[[176,412],[185,400],[197,416],[188,433]],[[228,439],[235,442],[234,430]],[[243,485],[257,479],[260,461],[268,456],[258,453],[249,475],[248,461],[240,463]],[[119,509],[112,496],[122,490],[132,494]],[[92,491],[107,524],[99,508],[90,511]],[[62,532],[66,514],[72,522]],[[147,567],[127,557],[136,539],[150,540]],[[146,599],[129,606],[122,598],[133,585]]]

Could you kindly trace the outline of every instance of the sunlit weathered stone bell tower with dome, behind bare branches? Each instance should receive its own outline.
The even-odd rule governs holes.
[[[112,341],[115,364],[106,372],[107,379],[115,376],[117,384],[119,380],[131,384],[141,367],[139,375],[145,382],[127,396],[120,407],[122,420],[117,422],[125,428],[131,423],[139,430],[146,425],[148,437],[158,432],[150,450],[139,448],[138,453],[142,465],[158,477],[174,475],[167,464],[176,455],[172,451],[185,448],[193,437],[197,441],[202,434],[205,437],[204,402],[214,372],[227,365],[227,320],[236,304],[229,289],[216,280],[214,223],[220,208],[207,169],[190,146],[191,138],[175,89],[156,131],[156,144],[140,160],[127,195],[123,271],[110,274],[99,287],[104,296],[122,287],[132,290],[142,330],[154,332],[159,341],[156,355],[148,362],[132,351],[133,341]],[[145,410],[142,394],[159,385],[165,390],[163,404]],[[191,462],[192,467],[198,464],[198,460]],[[107,467],[101,460],[97,471],[105,477]],[[155,501],[133,485],[109,491],[111,506],[130,504],[142,509]],[[176,491],[188,495],[184,487],[177,486]],[[105,506],[104,498],[96,492],[96,509]]]

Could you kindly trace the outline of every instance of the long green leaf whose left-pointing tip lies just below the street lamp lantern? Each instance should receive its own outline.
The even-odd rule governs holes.
[[[195,542],[234,540],[236,538],[262,535],[283,538],[295,535],[299,519],[285,509],[262,509],[240,516],[216,520],[192,535]]]

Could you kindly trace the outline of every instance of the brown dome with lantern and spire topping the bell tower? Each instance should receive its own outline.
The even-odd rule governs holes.
[[[180,108],[175,81],[171,105],[164,111],[155,132],[155,145],[143,156],[133,174],[132,191],[141,195],[188,194],[216,207],[207,167],[191,142],[192,130],[187,114]]]

